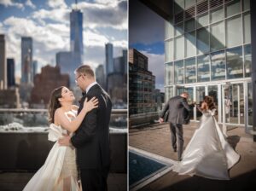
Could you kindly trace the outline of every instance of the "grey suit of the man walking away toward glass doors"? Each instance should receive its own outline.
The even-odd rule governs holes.
[[[187,112],[191,111],[188,102],[182,96],[172,97],[165,105],[160,118],[164,118],[166,112],[169,111],[167,121],[170,122],[170,130],[172,134],[172,148],[176,151],[177,149],[177,139],[178,139],[178,149],[177,157],[181,160],[183,153],[183,124],[186,118]],[[177,138],[176,138],[177,134]]]

